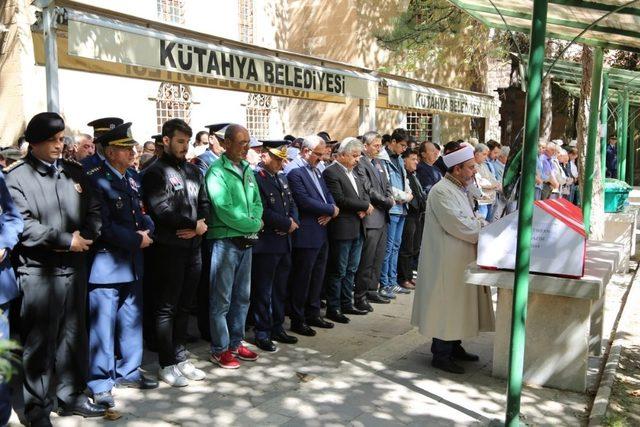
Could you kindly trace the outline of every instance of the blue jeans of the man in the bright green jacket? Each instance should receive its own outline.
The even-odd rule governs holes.
[[[237,348],[251,293],[251,248],[239,249],[229,239],[213,241],[209,292],[211,352]]]

